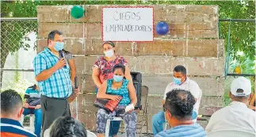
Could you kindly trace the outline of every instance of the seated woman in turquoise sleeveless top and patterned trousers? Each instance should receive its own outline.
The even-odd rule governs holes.
[[[111,117],[115,117],[115,115],[119,113],[119,111],[117,112],[118,109],[124,109],[125,106],[130,104],[136,106],[136,89],[129,80],[124,79],[124,73],[124,65],[115,65],[113,67],[113,79],[106,80],[99,88],[97,98],[112,99],[120,102],[113,113],[109,113],[105,109],[99,109],[97,111],[98,137],[103,136],[103,133],[105,133],[105,125],[107,120]],[[121,100],[120,97],[122,97]],[[124,113],[124,115],[121,117],[124,119],[127,127],[127,136],[135,136],[136,113],[132,109],[128,113]]]

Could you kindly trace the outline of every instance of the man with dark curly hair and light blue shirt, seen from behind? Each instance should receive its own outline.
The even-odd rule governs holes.
[[[161,131],[156,137],[204,137],[206,132],[192,120],[196,101],[189,91],[174,89],[166,94],[165,117],[170,129]]]

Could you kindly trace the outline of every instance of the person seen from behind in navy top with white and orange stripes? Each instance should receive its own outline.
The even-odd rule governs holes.
[[[19,120],[24,109],[22,107],[21,95],[16,91],[7,90],[1,93],[1,124],[2,137],[29,136],[36,137],[30,131],[22,127]]]

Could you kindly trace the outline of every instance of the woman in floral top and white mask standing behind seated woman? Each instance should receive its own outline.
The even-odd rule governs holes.
[[[93,80],[96,84],[97,89],[101,87],[105,80],[113,79],[113,67],[114,65],[121,64],[125,67],[124,77],[132,83],[132,76],[130,74],[130,69],[128,68],[128,63],[124,57],[117,56],[115,54],[114,43],[108,41],[102,44],[104,49],[104,57],[99,57],[93,67]],[[110,124],[109,136],[117,135],[120,128],[120,121],[112,121]]]

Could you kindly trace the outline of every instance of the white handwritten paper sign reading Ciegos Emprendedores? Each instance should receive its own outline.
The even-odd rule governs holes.
[[[104,7],[103,41],[153,41],[153,7]]]

